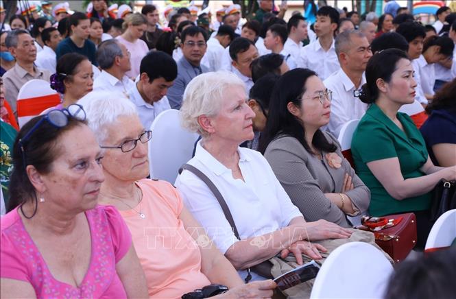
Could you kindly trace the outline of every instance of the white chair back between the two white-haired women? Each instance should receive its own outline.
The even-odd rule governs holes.
[[[174,109],[161,112],[150,129],[150,177],[174,184],[179,168],[191,159],[198,134],[182,128],[180,112]]]

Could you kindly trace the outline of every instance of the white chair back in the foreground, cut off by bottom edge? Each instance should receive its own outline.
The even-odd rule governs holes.
[[[374,246],[346,243],[324,261],[313,283],[311,299],[383,298],[392,272],[391,263]]]

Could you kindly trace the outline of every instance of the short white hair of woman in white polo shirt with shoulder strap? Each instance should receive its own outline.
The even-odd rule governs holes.
[[[239,86],[245,91],[245,84],[237,75],[228,71],[203,73],[187,85],[180,108],[181,123],[184,128],[208,136],[201,128],[198,117],[213,117],[220,111],[224,93],[228,88]]]

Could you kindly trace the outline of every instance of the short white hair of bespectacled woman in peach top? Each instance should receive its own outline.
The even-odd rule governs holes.
[[[136,106],[124,95],[111,91],[92,91],[82,97],[80,104],[86,112],[89,128],[102,144],[108,138],[108,128],[121,116],[138,116]]]

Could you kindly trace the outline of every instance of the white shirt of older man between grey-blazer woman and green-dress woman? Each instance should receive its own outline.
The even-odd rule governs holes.
[[[335,137],[339,136],[340,129],[344,123],[352,119],[361,119],[368,110],[368,104],[365,104],[353,95],[353,92],[363,84],[365,77],[361,77],[361,84],[358,88],[352,80],[346,75],[344,70],[339,69],[330,75],[323,82],[324,86],[333,91],[333,101],[331,101],[331,116],[329,117],[328,131]]]

